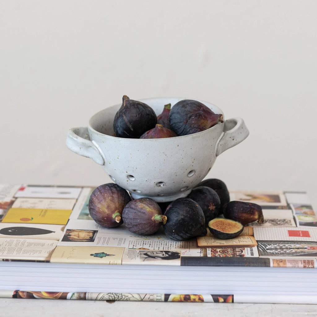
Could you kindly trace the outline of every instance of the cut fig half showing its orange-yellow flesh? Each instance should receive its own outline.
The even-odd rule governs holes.
[[[215,218],[208,223],[209,231],[212,235],[219,239],[232,239],[239,236],[243,231],[243,224],[227,219],[227,218]]]

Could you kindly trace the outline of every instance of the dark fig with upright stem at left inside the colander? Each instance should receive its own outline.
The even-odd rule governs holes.
[[[156,123],[156,114],[150,106],[124,95],[122,105],[114,116],[113,131],[118,138],[139,139]]]

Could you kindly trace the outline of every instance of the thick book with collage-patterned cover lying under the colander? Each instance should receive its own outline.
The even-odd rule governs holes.
[[[305,192],[230,191],[262,206],[240,236],[174,241],[90,217],[95,187],[0,185],[0,297],[317,303],[317,217]]]

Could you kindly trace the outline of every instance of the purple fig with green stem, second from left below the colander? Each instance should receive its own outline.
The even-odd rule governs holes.
[[[152,235],[159,230],[166,216],[158,203],[147,197],[131,200],[122,212],[123,223],[130,232],[138,235]]]

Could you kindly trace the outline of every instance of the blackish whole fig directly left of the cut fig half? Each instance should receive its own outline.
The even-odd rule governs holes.
[[[197,236],[205,236],[205,216],[201,207],[188,197],[174,200],[165,210],[167,221],[163,229],[170,239],[183,241]]]

